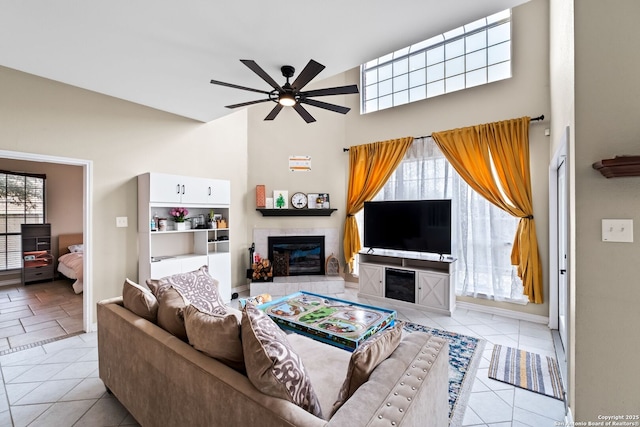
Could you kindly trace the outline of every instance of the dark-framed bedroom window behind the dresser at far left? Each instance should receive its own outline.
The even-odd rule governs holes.
[[[21,224],[44,223],[45,178],[0,171],[0,271],[22,267]]]

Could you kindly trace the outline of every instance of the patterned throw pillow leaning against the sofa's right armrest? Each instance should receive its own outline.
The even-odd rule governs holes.
[[[376,366],[395,351],[402,339],[402,325],[403,322],[396,320],[394,326],[375,333],[351,353],[347,377],[338,393],[338,400],[333,404],[332,416],[358,387],[369,380]]]

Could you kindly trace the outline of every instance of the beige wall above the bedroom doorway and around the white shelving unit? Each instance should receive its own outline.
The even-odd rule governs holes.
[[[136,176],[149,171],[231,180],[233,283],[245,283],[245,112],[203,124],[1,67],[0,93],[0,149],[93,162],[92,304],[138,276]]]

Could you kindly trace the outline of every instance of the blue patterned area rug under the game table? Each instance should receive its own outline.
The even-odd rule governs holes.
[[[449,426],[462,425],[485,341],[455,332],[405,322],[407,332],[426,332],[449,341]]]

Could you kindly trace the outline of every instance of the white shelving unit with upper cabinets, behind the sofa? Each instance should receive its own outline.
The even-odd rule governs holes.
[[[229,208],[231,186],[228,180],[196,178],[161,173],[138,176],[138,280],[160,279],[208,265],[219,282],[225,302],[231,300],[231,256],[229,251]],[[209,217],[211,210],[226,221],[227,227],[176,230],[169,211],[183,207],[188,217]],[[152,219],[166,218],[164,231],[151,228]],[[156,225],[157,227],[157,225]],[[202,228],[200,228],[202,227]]]

